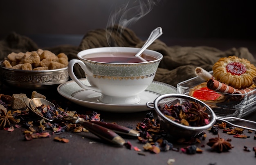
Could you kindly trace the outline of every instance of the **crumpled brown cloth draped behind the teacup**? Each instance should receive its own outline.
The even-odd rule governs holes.
[[[107,39],[106,32],[109,33],[110,30],[112,35]],[[120,26],[116,25],[113,28],[89,31],[84,35],[79,46],[61,45],[42,49],[52,51],[55,54],[63,52],[69,59],[77,59],[76,55],[79,51],[89,48],[106,46],[140,48],[144,43],[145,41],[139,39],[132,30],[128,28],[121,29]],[[11,33],[0,41],[0,60],[11,52],[36,51],[38,48],[38,45],[29,37]],[[256,64],[256,60],[247,48],[231,48],[227,51],[220,51],[209,46],[167,46],[164,42],[156,40],[148,49],[162,53],[164,56],[157,69],[155,81],[161,81],[173,86],[176,86],[178,82],[195,77],[194,70],[198,66],[208,71],[212,70],[211,67],[220,57],[236,55],[240,58],[248,59],[254,65]],[[78,78],[85,77],[83,70],[79,66],[75,66],[75,74]]]

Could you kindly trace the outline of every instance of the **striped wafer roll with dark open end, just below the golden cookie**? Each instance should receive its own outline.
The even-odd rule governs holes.
[[[207,81],[207,88],[214,90],[216,92],[229,93],[229,94],[232,94],[237,90],[232,86],[228,86],[227,84],[221,83],[220,81],[215,79],[209,79]]]

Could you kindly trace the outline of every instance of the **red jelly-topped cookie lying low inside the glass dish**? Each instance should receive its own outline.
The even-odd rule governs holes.
[[[193,90],[189,92],[189,95],[207,102],[222,102],[225,99],[224,95],[207,88],[207,82],[203,82],[202,84],[193,87]]]

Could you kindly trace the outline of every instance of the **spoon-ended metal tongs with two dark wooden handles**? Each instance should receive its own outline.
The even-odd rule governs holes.
[[[29,99],[25,97],[23,100],[27,108],[29,108],[31,112],[36,114],[38,117],[45,119],[45,121],[56,122],[56,123],[60,121],[70,121],[71,123],[81,124],[83,125],[83,127],[85,127],[87,130],[89,130],[99,138],[107,140],[114,144],[124,145],[125,143],[125,140],[118,134],[123,134],[126,136],[134,136],[134,137],[137,137],[140,135],[139,132],[135,130],[132,130],[130,128],[117,125],[114,123],[107,123],[107,122],[101,122],[101,121],[85,121],[82,118],[71,117],[71,116],[65,116],[65,117],[62,117],[59,119],[53,119],[53,120],[47,119],[46,117],[43,117],[36,112],[36,107],[42,106],[43,104],[46,106],[47,105],[55,106],[53,103],[42,98]]]

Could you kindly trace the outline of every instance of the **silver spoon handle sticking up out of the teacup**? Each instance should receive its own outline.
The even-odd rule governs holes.
[[[139,55],[141,55],[141,53],[143,53],[146,50],[146,48],[148,48],[148,46],[150,46],[162,34],[163,34],[163,31],[161,27],[157,27],[155,30],[153,30],[149,35],[148,40],[141,47],[141,49],[138,51],[135,57],[138,57]]]

